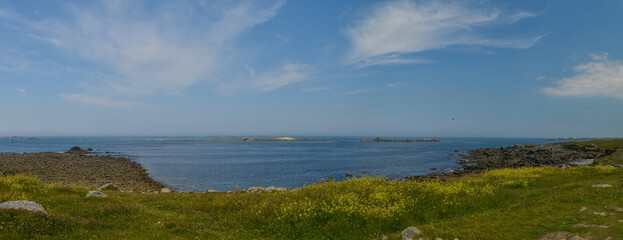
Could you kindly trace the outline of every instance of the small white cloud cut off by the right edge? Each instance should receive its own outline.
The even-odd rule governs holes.
[[[590,54],[593,60],[573,68],[575,75],[542,89],[552,96],[623,98],[623,62],[611,61],[608,54]]]

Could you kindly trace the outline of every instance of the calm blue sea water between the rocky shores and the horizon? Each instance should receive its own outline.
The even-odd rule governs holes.
[[[305,136],[293,136],[304,138]],[[130,156],[177,191],[295,188],[346,174],[402,178],[458,167],[454,150],[550,143],[527,138],[440,138],[444,142],[360,143],[367,137],[309,137],[334,142],[197,142],[211,137],[41,137],[0,139],[0,153],[63,152],[72,146]],[[385,139],[405,139],[390,138]],[[422,139],[410,137],[410,139]],[[439,171],[437,170],[437,171]]]

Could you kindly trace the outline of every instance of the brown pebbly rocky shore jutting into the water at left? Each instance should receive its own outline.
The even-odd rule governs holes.
[[[37,177],[46,184],[97,188],[112,183],[119,190],[134,192],[157,192],[164,188],[163,184],[151,179],[140,164],[112,155],[52,152],[0,154],[0,175],[16,174]]]

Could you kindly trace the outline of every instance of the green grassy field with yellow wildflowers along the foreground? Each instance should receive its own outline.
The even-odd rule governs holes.
[[[613,144],[619,152],[623,141],[582,144]],[[431,239],[534,239],[556,231],[623,239],[623,169],[603,165],[501,169],[445,182],[363,177],[271,193],[105,191],[108,198],[86,199],[87,191],[1,177],[0,202],[31,200],[49,214],[2,209],[0,238],[400,239],[416,226]]]

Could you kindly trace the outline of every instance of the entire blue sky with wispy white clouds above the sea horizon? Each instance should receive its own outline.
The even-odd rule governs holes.
[[[623,1],[0,1],[0,136],[623,137]]]

